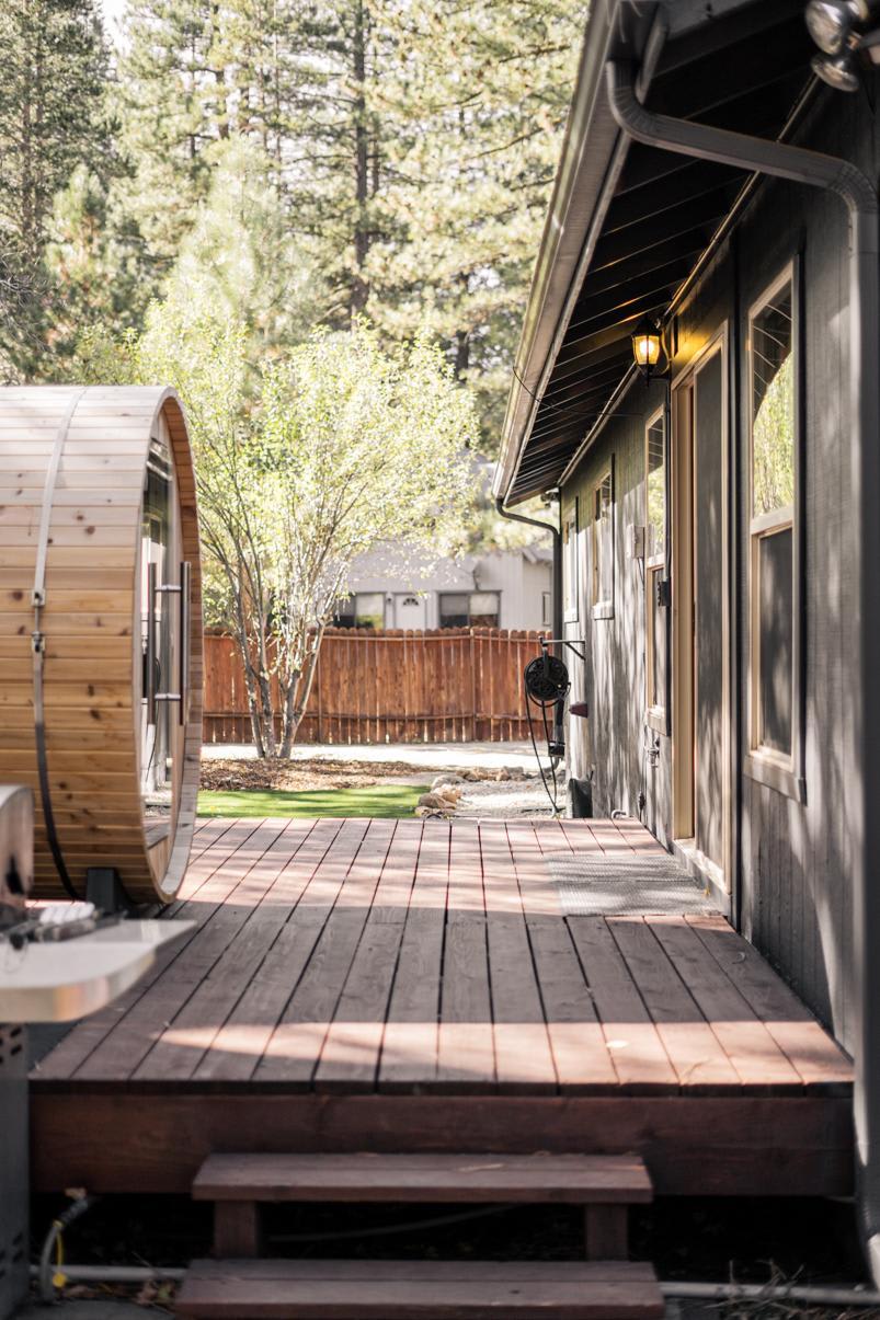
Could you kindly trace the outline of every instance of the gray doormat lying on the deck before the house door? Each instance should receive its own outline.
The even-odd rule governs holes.
[[[667,853],[547,853],[566,916],[717,912],[699,880]]]

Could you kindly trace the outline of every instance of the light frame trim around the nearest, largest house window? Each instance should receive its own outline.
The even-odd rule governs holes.
[[[793,354],[793,383],[794,383],[794,503],[784,508],[773,510],[769,513],[753,515],[754,508],[754,437],[752,414],[752,380],[753,380],[753,338],[752,325],[756,315],[768,302],[786,285],[791,286],[791,354]],[[749,779],[765,784],[769,788],[791,797],[798,803],[806,801],[806,781],[803,777],[803,715],[802,715],[802,628],[803,628],[803,590],[801,583],[801,389],[802,389],[802,362],[799,345],[799,263],[789,261],[784,271],[769,284],[754,300],[748,310],[747,322],[747,408],[748,408],[748,675],[747,675],[747,705],[748,705],[748,751],[744,758],[744,771]],[[764,747],[758,742],[760,729],[760,622],[758,622],[758,591],[757,591],[757,556],[761,540],[786,529],[791,529],[791,751],[780,752],[772,747]]]

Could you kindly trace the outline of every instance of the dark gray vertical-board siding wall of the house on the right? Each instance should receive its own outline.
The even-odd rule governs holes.
[[[867,98],[822,92],[798,135],[802,145],[858,161],[877,177],[875,125]],[[749,665],[749,308],[795,260],[801,280],[802,692],[805,800],[747,774]],[[846,694],[855,681],[847,649],[855,607],[848,537],[847,215],[835,197],[765,181],[727,244],[678,315],[673,376],[717,331],[727,338],[729,455],[727,469],[731,693],[725,713],[732,768],[731,917],[786,975],[814,1011],[851,1045],[852,891],[842,804]],[[880,370],[880,364],[877,364]],[[569,771],[593,775],[597,814],[622,808],[671,841],[673,747],[658,738],[657,764],[645,755],[643,566],[628,557],[628,528],[643,527],[645,424],[665,400],[665,384],[638,381],[562,491],[563,520],[575,500],[577,616],[568,636],[587,639],[587,664],[571,661],[572,700],[589,702],[588,722],[571,719]],[[614,601],[593,618],[589,601],[591,495],[613,469]],[[877,511],[880,516],[880,511]],[[717,552],[721,553],[720,544]],[[877,566],[880,572],[880,566]],[[571,599],[571,564],[566,594]],[[675,593],[675,581],[673,581]],[[640,805],[643,795],[643,805]]]

